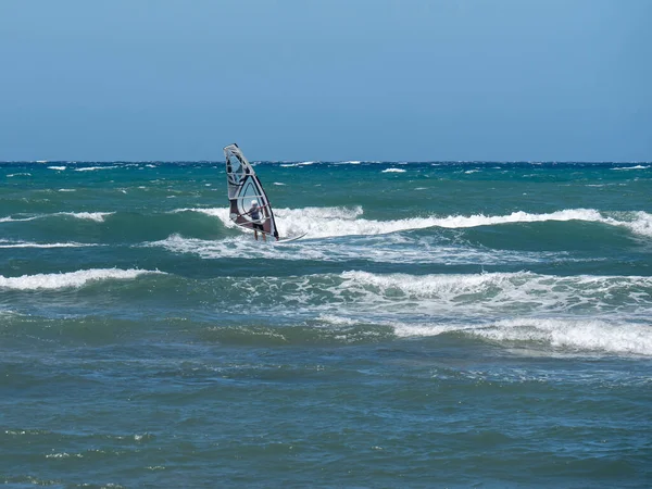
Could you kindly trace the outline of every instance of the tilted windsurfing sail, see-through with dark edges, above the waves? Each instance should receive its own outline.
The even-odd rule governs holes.
[[[258,225],[255,227],[261,230],[259,226],[262,225],[263,233],[278,239],[269,199],[253,167],[236,143],[224,148],[224,156],[231,221],[249,229],[254,229],[254,225]]]

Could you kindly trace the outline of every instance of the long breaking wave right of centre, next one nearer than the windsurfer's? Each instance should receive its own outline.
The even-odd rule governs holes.
[[[529,272],[468,275],[374,274],[248,279],[247,288],[266,308],[284,314],[290,303],[306,311],[363,322],[403,321],[422,324],[441,318],[486,324],[504,317],[532,316],[648,321],[652,314],[652,277],[554,276]],[[283,296],[275,304],[268,290]],[[262,299],[259,299],[262,300]],[[296,314],[296,311],[292,312]]]

